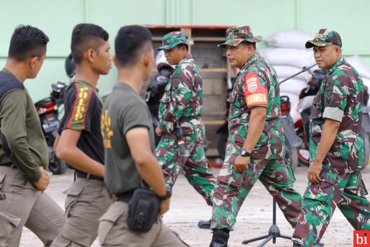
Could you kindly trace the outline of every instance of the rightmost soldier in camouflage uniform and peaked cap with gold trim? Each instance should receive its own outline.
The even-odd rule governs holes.
[[[359,172],[363,163],[363,83],[342,57],[337,32],[320,29],[306,48],[314,47],[319,68],[328,70],[313,104],[310,123],[309,184],[294,246],[318,247],[336,206],[356,230],[370,230],[370,203]]]

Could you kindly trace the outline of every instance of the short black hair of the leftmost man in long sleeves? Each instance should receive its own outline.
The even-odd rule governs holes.
[[[19,62],[34,57],[42,57],[46,53],[49,37],[37,27],[19,25],[10,39],[8,57]]]

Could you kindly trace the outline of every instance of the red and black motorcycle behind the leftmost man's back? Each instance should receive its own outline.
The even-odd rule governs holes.
[[[53,150],[57,130],[60,124],[58,119],[58,107],[63,103],[63,94],[66,88],[67,85],[62,81],[52,84],[50,97],[35,103],[35,107],[40,118],[42,132],[48,145],[49,170],[53,174],[63,174],[67,168],[67,165],[56,157]]]

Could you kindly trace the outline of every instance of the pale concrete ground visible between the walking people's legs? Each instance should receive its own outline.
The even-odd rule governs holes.
[[[217,175],[220,169],[213,169]],[[297,167],[295,176],[295,188],[303,194],[307,185],[307,167]],[[370,168],[362,172],[365,185],[370,188]],[[73,183],[73,171],[68,170],[63,175],[51,177],[51,183],[46,192],[64,208],[65,195],[62,193]],[[370,197],[368,196],[370,199]],[[208,220],[211,217],[211,208],[205,204],[202,197],[189,185],[184,176],[179,176],[178,181],[173,187],[170,210],[164,216],[164,222],[171,229],[178,232],[180,237],[192,247],[208,247],[212,234],[210,230],[199,229],[199,220]],[[268,194],[263,185],[258,182],[238,215],[235,230],[230,233],[229,246],[258,246],[261,241],[242,245],[244,239],[255,238],[268,232],[272,224],[272,197]],[[293,228],[287,223],[281,211],[277,209],[277,225],[280,227],[281,234],[292,235]],[[350,247],[353,246],[353,229],[339,210],[333,214],[332,221],[326,230],[322,242],[325,247]],[[37,237],[24,228],[20,246],[41,247],[42,243]],[[95,241],[93,247],[99,246]],[[277,244],[270,241],[266,247],[291,247],[292,242],[285,239],[277,239]]]

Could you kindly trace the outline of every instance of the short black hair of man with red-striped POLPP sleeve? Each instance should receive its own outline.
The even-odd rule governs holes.
[[[72,31],[71,51],[75,63],[82,62],[83,54],[88,49],[99,52],[103,41],[108,41],[109,34],[101,26],[91,23],[77,24]]]

